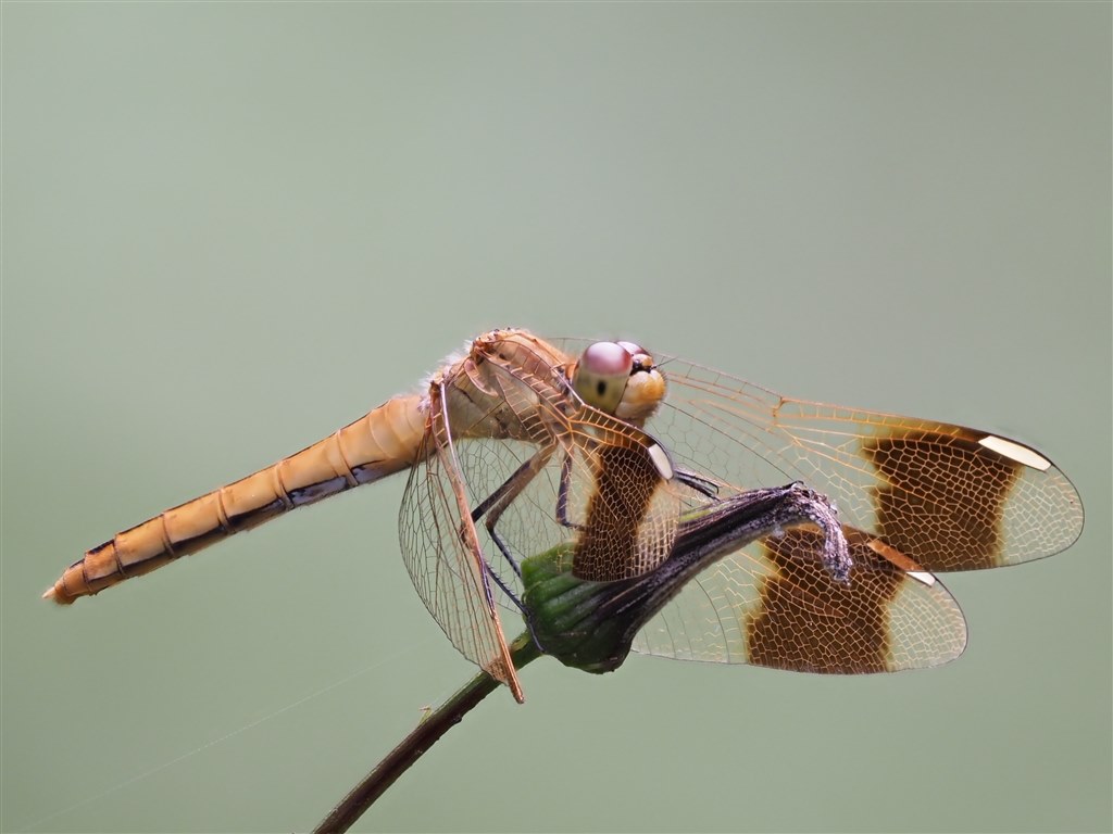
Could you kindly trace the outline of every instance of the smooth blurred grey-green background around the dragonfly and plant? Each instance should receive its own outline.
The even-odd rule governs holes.
[[[948,579],[942,669],[539,662],[362,830],[1110,830],[1110,30],[4,3],[2,827],[304,830],[470,676],[402,565],[403,479],[38,597],[518,325],[1016,437],[1087,527]]]

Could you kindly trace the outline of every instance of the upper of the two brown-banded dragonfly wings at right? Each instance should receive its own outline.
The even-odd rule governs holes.
[[[1082,530],[1071,481],[1015,440],[791,399],[679,360],[667,368],[669,395],[651,430],[681,465],[739,489],[802,480],[845,523],[928,570],[1042,558]]]

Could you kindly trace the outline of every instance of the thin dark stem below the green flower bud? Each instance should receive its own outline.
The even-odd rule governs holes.
[[[530,637],[530,633],[525,632],[511,644],[510,656],[514,662],[514,668],[520,669],[540,657],[541,652]],[[463,721],[463,717],[474,706],[499,686],[499,682],[485,672],[481,672],[464,684],[463,688],[430,713],[421,724],[414,727],[410,735],[402,739],[397,747],[375,766],[375,770],[352,788],[328,816],[317,824],[314,832],[316,834],[344,832],[352,827],[355,821],[372,806],[386,788],[394,784],[398,776],[405,773],[414,762],[436,744],[441,736]]]

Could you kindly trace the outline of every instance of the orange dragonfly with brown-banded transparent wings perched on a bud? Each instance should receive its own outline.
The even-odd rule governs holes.
[[[564,546],[588,582],[646,576],[701,507],[806,485],[837,507],[841,552],[819,525],[775,529],[703,567],[632,648],[866,674],[963,652],[966,622],[935,573],[1046,557],[1083,526],[1071,481],[1017,440],[787,397],[631,341],[508,328],[418,390],[87,550],[43,596],[70,604],[402,471],[400,543],[420,597],[519,702],[502,615],[526,614],[534,554]]]

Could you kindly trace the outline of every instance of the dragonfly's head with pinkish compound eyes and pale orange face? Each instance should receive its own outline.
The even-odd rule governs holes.
[[[572,367],[572,387],[584,403],[641,424],[664,399],[664,377],[653,357],[632,341],[595,341]]]

